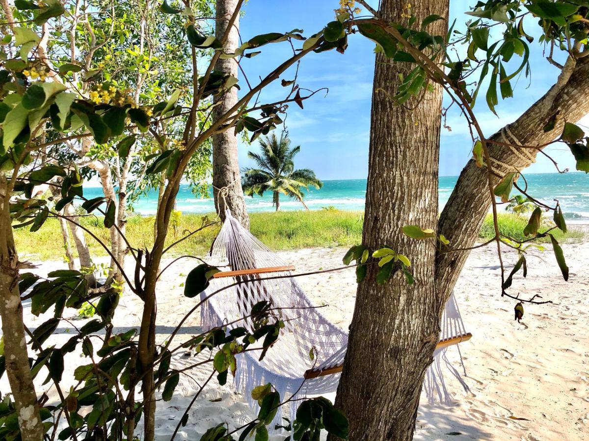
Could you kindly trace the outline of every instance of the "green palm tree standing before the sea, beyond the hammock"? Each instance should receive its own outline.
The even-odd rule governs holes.
[[[303,202],[305,193],[302,189],[309,186],[322,188],[323,182],[316,178],[315,172],[310,169],[294,170],[294,156],[300,152],[300,146],[290,148],[290,139],[280,135],[266,136],[260,140],[262,153],[259,155],[247,152],[249,158],[256,161],[259,168],[244,168],[244,177],[241,186],[247,196],[259,195],[264,192],[272,192],[272,203],[276,211],[280,209],[280,193],[290,198],[299,199],[300,203],[308,210]]]

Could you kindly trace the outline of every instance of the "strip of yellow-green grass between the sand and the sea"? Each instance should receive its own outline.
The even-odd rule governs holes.
[[[211,216],[212,217],[212,216]],[[80,218],[88,228],[104,243],[108,243],[108,230],[102,225],[102,219],[95,216]],[[127,238],[135,248],[150,248],[153,245],[154,219],[130,215],[127,222]],[[179,216],[176,228],[170,228],[167,244],[180,239],[187,231],[194,231],[200,226],[201,215],[186,214]],[[360,243],[362,239],[362,212],[349,211],[296,211],[264,212],[250,214],[251,230],[270,249],[286,250],[313,247],[348,247]],[[527,218],[510,214],[499,216],[501,232],[511,238],[524,239],[522,230]],[[547,226],[550,228],[550,226]],[[208,252],[219,226],[207,228],[191,238],[174,246],[170,255],[203,255]],[[554,230],[559,242],[580,242],[584,233],[573,230],[563,235]],[[14,230],[16,248],[24,258],[34,260],[61,259],[64,255],[61,232],[57,219],[48,219],[37,232],[28,229]],[[481,229],[481,240],[493,236],[491,216],[487,216]],[[550,239],[539,239],[550,242]],[[88,246],[92,256],[107,255],[98,242],[87,235]],[[75,247],[74,247],[75,248]]]

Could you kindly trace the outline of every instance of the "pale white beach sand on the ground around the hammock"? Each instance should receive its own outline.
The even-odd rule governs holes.
[[[451,380],[456,404],[451,407],[422,405],[418,416],[415,439],[521,439],[521,440],[581,440],[589,439],[589,243],[565,245],[565,255],[571,270],[570,281],[564,282],[550,247],[544,253],[530,252],[528,278],[521,275],[514,281],[512,292],[522,297],[541,293],[551,305],[524,305],[521,323],[514,321],[513,300],[499,296],[498,260],[494,248],[472,252],[456,287],[456,298],[465,325],[474,337],[461,345],[471,393],[465,393]],[[304,249],[281,252],[287,262],[297,266],[297,272],[334,268],[341,265],[344,249]],[[505,262],[512,264],[517,256],[506,250]],[[196,299],[183,296],[184,278],[196,261],[181,260],[164,273],[158,295],[158,340],[165,340],[174,325]],[[62,262],[38,262],[41,275],[57,268]],[[165,265],[165,263],[164,263]],[[327,305],[322,313],[346,329],[352,319],[356,283],[353,270],[298,279],[316,305]],[[122,332],[140,321],[141,300],[132,295],[121,299],[114,322]],[[35,328],[52,316],[52,311],[36,318],[25,306],[25,320]],[[75,318],[67,310],[75,326],[85,320]],[[178,339],[198,333],[198,313],[187,320]],[[58,334],[45,346],[63,344],[72,335],[72,325],[62,322]],[[278,343],[279,345],[279,343]],[[98,343],[94,343],[97,348]],[[279,346],[277,346],[277,349]],[[67,373],[64,389],[69,388],[72,369],[88,360],[80,353],[66,358]],[[175,366],[191,360],[178,356]],[[210,372],[210,371],[209,371]],[[166,440],[176,427],[206,372],[188,372],[183,376],[170,402],[158,403],[157,439]],[[38,378],[38,392],[52,387],[40,386],[45,379],[43,370]],[[212,382],[211,382],[212,383]],[[0,382],[2,392],[8,390],[6,376]],[[333,399],[333,396],[330,396]],[[425,402],[425,400],[423,400]],[[176,439],[200,439],[207,427],[224,421],[230,426],[236,420],[252,417],[253,413],[240,395],[233,393],[231,384],[207,387],[190,412],[188,424]],[[525,418],[515,420],[510,417]],[[461,436],[446,435],[459,432]],[[284,436],[273,436],[282,440]]]

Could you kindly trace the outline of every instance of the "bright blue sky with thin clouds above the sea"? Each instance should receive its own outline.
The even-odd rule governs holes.
[[[294,28],[303,29],[305,35],[312,35],[332,21],[337,0],[271,1],[250,0],[244,7],[241,18],[241,37],[244,41],[254,35],[267,32],[287,32]],[[371,2],[372,3],[372,2]],[[464,26],[469,16],[465,15],[468,2],[451,2],[450,22],[456,19],[456,29]],[[461,26],[462,25],[462,26]],[[538,26],[531,19],[527,23],[528,34],[538,36]],[[542,96],[555,82],[558,69],[548,64],[542,55],[537,39],[532,43],[531,79],[521,75],[514,86],[514,98],[500,102],[497,106],[499,118],[491,113],[482,98],[475,106],[477,119],[487,136],[517,119],[532,103]],[[313,169],[319,179],[364,179],[368,175],[368,143],[370,128],[370,100],[374,71],[374,44],[360,35],[349,38],[345,54],[336,51],[310,54],[302,59],[299,68],[299,84],[302,88],[329,88],[329,93],[319,92],[305,101],[305,109],[296,105],[289,108],[286,125],[294,145],[301,146],[296,158],[297,168]],[[280,64],[292,53],[287,42],[263,46],[262,54],[244,60],[242,66],[250,78],[256,81],[273,67]],[[459,48],[460,51],[465,48]],[[517,56],[514,56],[517,58]],[[513,69],[517,68],[512,61]],[[292,79],[294,69],[282,76]],[[240,78],[243,84],[243,78]],[[286,88],[279,84],[267,89],[262,102],[283,98]],[[468,128],[455,112],[448,115],[452,131],[442,129],[440,174],[458,175],[471,156],[472,141]],[[277,130],[280,131],[279,127]],[[278,133],[277,133],[278,134]],[[240,144],[240,166],[253,166],[247,158],[252,146]],[[574,170],[574,159],[566,146],[554,146],[550,152],[561,169]],[[540,155],[528,173],[555,172],[547,158]]]

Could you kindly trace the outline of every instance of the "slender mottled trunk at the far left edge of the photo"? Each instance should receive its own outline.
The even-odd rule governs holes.
[[[21,295],[18,290],[18,256],[12,236],[9,191],[4,174],[0,175],[0,198],[0,318],[4,335],[6,374],[14,397],[22,440],[42,441],[43,425],[29,369]]]

